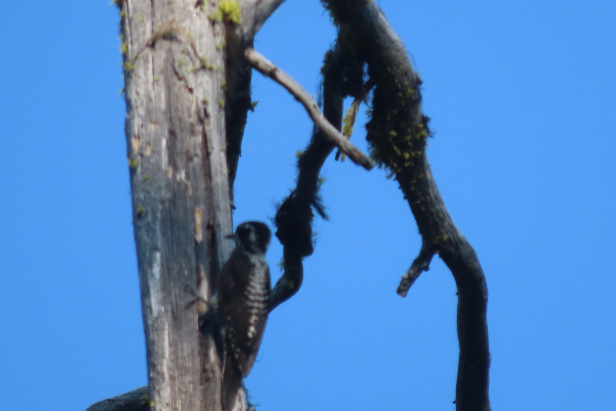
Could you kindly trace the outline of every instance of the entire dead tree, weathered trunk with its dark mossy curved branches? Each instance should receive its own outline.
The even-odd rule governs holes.
[[[116,2],[149,387],[89,410],[221,410],[222,344],[212,297],[232,250],[225,235],[232,232],[232,185],[250,108],[251,67],[288,89],[318,128],[299,158],[296,189],[275,219],[285,261],[270,309],[301,287],[302,259],[313,251],[313,210],[323,214],[318,176],[325,159],[338,147],[367,169],[374,164],[339,133],[342,99],[354,97],[356,113],[371,91],[367,139],[373,158],[399,182],[423,239],[398,292],[405,295],[436,254],[447,264],[459,299],[456,409],[490,410],[484,273],[432,178],[421,79],[378,6],[322,0],[338,26],[322,70],[322,114],[299,84],[251,47],[283,0]],[[354,114],[349,117],[352,123]],[[243,401],[236,401],[233,410],[243,409]]]

